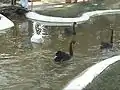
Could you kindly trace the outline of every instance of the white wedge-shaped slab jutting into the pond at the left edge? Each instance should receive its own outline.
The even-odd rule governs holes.
[[[0,32],[14,26],[14,23],[4,15],[0,14]]]

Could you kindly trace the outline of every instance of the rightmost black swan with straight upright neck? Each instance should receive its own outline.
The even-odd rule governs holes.
[[[110,42],[101,42],[100,49],[110,49],[113,47],[113,29],[111,29]]]

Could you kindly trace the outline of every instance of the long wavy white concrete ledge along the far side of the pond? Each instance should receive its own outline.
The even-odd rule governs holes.
[[[26,17],[32,21],[39,21],[41,24],[46,26],[71,26],[73,22],[81,24],[89,20],[91,17],[100,16],[100,15],[109,15],[109,14],[120,14],[120,10],[98,10],[86,12],[80,17],[74,18],[63,18],[63,17],[52,17],[40,15],[36,12],[26,13]]]

